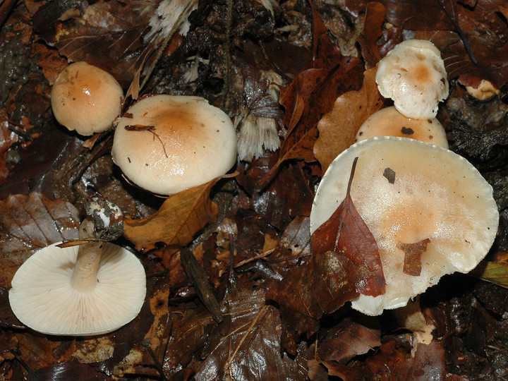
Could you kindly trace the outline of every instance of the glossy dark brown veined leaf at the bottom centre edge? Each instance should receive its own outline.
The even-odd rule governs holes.
[[[221,380],[224,375],[238,381],[305,380],[296,363],[281,351],[279,313],[265,304],[265,293],[236,286],[224,302],[230,318],[214,332],[216,344],[195,380]]]

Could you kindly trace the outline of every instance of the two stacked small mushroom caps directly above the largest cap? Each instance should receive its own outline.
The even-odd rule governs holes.
[[[400,136],[448,148],[446,133],[435,119],[449,85],[439,50],[425,40],[406,40],[381,59],[377,89],[393,107],[376,111],[360,127],[355,141],[373,136]]]

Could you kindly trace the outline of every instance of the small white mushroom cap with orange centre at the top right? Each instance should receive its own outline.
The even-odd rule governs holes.
[[[437,104],[448,97],[449,85],[439,49],[426,40],[398,44],[377,65],[381,95],[408,118],[432,119]]]

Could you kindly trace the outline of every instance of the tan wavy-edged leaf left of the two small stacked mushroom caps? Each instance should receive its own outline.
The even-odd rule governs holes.
[[[339,96],[332,111],[317,123],[320,135],[314,145],[314,155],[323,171],[339,153],[354,143],[362,123],[382,108],[382,97],[375,83],[376,71],[377,68],[365,71],[361,89]]]

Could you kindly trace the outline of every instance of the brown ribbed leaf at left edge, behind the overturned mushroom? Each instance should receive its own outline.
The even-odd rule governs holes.
[[[11,288],[18,267],[36,250],[78,238],[78,210],[40,193],[11,195],[0,201],[0,285]]]

